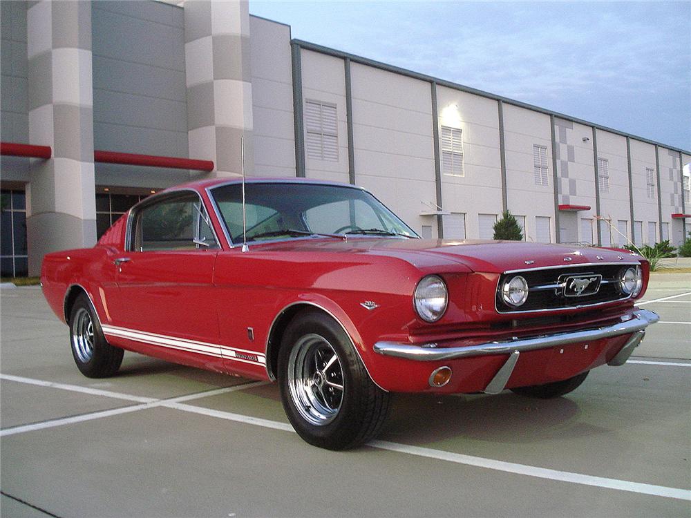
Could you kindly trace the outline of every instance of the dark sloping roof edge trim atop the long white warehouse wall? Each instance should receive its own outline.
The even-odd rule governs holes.
[[[387,72],[405,75],[407,77],[412,77],[413,79],[419,79],[421,81],[426,81],[430,83],[434,82],[439,86],[453,88],[453,90],[460,90],[462,92],[480,95],[480,97],[486,97],[487,99],[493,99],[494,101],[502,101],[504,102],[504,104],[511,104],[513,106],[518,106],[519,108],[526,108],[527,110],[543,113],[545,115],[553,115],[554,117],[559,117],[560,119],[576,122],[577,124],[583,124],[584,126],[590,126],[591,128],[596,128],[601,131],[607,131],[609,133],[614,133],[615,135],[621,135],[622,137],[630,137],[632,139],[638,140],[639,142],[645,142],[646,144],[653,144],[654,146],[660,146],[671,151],[677,151],[685,155],[691,155],[691,151],[676,148],[674,146],[669,146],[668,144],[663,144],[661,142],[656,142],[654,140],[646,139],[644,137],[639,137],[638,135],[625,133],[624,131],[619,131],[614,128],[608,128],[607,126],[601,126],[600,124],[595,124],[594,122],[588,122],[583,119],[571,117],[570,115],[565,115],[563,113],[558,113],[556,111],[547,110],[547,108],[540,108],[540,106],[534,106],[533,104],[527,104],[524,102],[516,101],[515,99],[509,99],[509,97],[502,97],[501,95],[485,92],[484,90],[478,90],[477,88],[464,86],[462,84],[454,83],[453,81],[447,81],[446,79],[439,79],[438,77],[433,77],[431,75],[421,74],[419,72],[414,72],[413,70],[408,70],[406,68],[401,68],[399,66],[382,63],[381,61],[375,61],[374,59],[369,59],[367,57],[357,56],[354,54],[350,54],[349,52],[343,52],[343,50],[337,50],[335,48],[329,48],[323,45],[313,44],[310,43],[310,41],[304,41],[302,39],[292,39],[291,43],[299,46],[300,48],[304,48],[305,50],[312,50],[314,52],[320,52],[321,54],[339,57],[341,59],[349,58],[352,63],[359,63],[361,65],[379,68],[380,70],[386,70]]]

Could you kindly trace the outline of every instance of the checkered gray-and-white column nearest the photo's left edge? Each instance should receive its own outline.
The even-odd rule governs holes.
[[[51,146],[31,160],[27,186],[29,275],[46,253],[96,242],[91,2],[28,8],[29,142]]]

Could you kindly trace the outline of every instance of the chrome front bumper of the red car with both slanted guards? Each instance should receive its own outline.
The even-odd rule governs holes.
[[[632,336],[626,341],[616,356],[608,362],[608,365],[624,365],[631,353],[634,352],[634,349],[643,340],[645,328],[658,320],[660,320],[660,317],[653,311],[636,309],[632,316],[627,315],[623,317],[619,323],[595,329],[533,336],[531,338],[513,338],[513,340],[481,343],[478,345],[468,345],[467,347],[437,347],[435,343],[408,345],[404,343],[377,342],[374,348],[375,352],[385,356],[396,356],[397,358],[417,361],[446,361],[458,358],[471,358],[473,356],[488,356],[490,354],[509,354],[507,361],[504,362],[504,365],[500,367],[484,389],[486,394],[498,394],[506,387],[513,373],[513,368],[518,363],[518,356],[522,352],[631,334]]]

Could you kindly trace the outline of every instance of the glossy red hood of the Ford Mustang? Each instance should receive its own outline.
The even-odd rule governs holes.
[[[488,273],[588,263],[624,264],[638,262],[641,259],[638,254],[624,250],[523,241],[398,238],[349,238],[348,241],[342,241],[313,238],[259,246],[296,252],[366,253],[399,258],[424,269],[444,267],[444,265],[463,265],[472,271]]]

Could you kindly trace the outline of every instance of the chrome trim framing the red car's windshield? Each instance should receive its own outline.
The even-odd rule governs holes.
[[[233,240],[230,238],[230,234],[228,233],[228,229],[226,228],[225,225],[225,220],[223,219],[223,215],[221,215],[220,209],[218,208],[218,204],[216,203],[216,198],[214,197],[214,193],[211,191],[214,191],[214,189],[218,189],[219,187],[225,187],[229,185],[234,185],[234,184],[240,184],[241,180],[228,180],[227,182],[222,182],[220,184],[214,184],[208,187],[205,187],[204,190],[207,193],[207,197],[211,201],[211,207],[214,209],[214,213],[216,214],[216,220],[218,220],[218,224],[220,224],[221,229],[223,230],[223,235],[225,236],[228,246],[231,249],[242,247],[242,243],[234,243]],[[323,186],[334,186],[334,187],[348,187],[348,189],[355,189],[356,191],[363,191],[365,193],[368,193],[372,198],[377,200],[383,207],[386,208],[390,213],[395,215],[396,218],[401,220],[401,222],[408,227],[408,229],[413,232],[413,236],[407,237],[407,236],[376,236],[376,235],[352,235],[348,236],[348,239],[362,239],[362,238],[395,238],[395,239],[422,239],[415,230],[413,230],[412,227],[408,223],[406,223],[402,218],[397,215],[394,211],[386,207],[386,205],[377,198],[377,196],[373,195],[368,191],[367,189],[363,189],[362,187],[359,187],[357,185],[352,185],[352,184],[339,184],[338,182],[320,182],[319,180],[314,180],[314,181],[305,181],[302,179],[276,179],[276,180],[245,180],[246,184],[297,184],[297,185],[323,185]],[[147,198],[148,200],[148,198]],[[277,242],[286,242],[286,241],[295,241],[295,240],[305,240],[305,239],[314,239],[314,238],[319,238],[320,236],[293,236],[290,238],[276,238],[276,239],[270,239],[270,240],[261,240],[261,241],[248,241],[247,244],[252,244],[252,246],[258,246],[259,244],[269,244],[269,243],[277,243]]]

